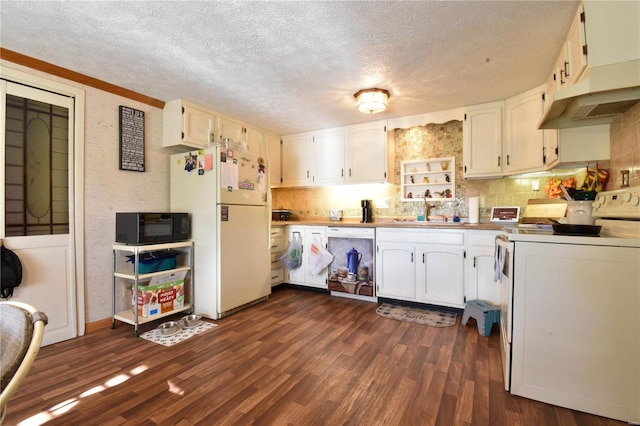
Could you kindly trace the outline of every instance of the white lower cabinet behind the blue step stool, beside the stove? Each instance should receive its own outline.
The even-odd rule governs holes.
[[[493,280],[495,238],[500,233],[500,231],[467,231],[466,300],[480,299],[500,304],[500,284]]]

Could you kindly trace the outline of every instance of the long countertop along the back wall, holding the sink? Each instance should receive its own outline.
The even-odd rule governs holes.
[[[467,229],[474,231],[500,231],[504,228],[504,225],[494,224],[491,222],[480,222],[477,224],[471,224],[465,221],[462,222],[443,222],[439,221],[421,221],[418,222],[415,219],[407,218],[392,218],[381,217],[374,218],[373,222],[362,223],[355,218],[344,218],[339,221],[332,221],[325,217],[308,217],[304,219],[295,220],[274,220],[271,222],[271,226],[287,226],[287,225],[303,225],[303,226],[344,226],[344,227],[359,227],[359,228],[419,228],[419,229]]]

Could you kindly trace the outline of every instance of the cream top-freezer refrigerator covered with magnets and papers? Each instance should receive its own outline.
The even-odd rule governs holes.
[[[215,147],[171,156],[171,210],[191,214],[194,312],[219,319],[271,293],[264,161]]]

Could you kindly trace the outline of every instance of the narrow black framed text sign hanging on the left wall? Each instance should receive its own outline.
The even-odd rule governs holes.
[[[144,172],[144,111],[120,106],[120,170]]]

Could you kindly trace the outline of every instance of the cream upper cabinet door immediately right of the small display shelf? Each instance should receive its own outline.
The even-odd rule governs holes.
[[[502,127],[504,102],[465,110],[462,140],[465,178],[502,176]]]

